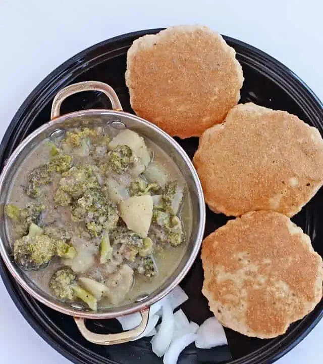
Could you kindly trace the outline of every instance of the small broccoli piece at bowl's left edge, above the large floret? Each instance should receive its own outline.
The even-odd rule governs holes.
[[[30,224],[32,222],[35,224],[39,222],[40,214],[44,208],[44,205],[36,205],[34,203],[28,204],[24,209],[9,204],[5,207],[5,213],[11,220],[13,220],[17,233],[20,235],[26,235]]]

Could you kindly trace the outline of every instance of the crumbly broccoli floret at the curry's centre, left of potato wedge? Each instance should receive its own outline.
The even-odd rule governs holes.
[[[116,206],[98,188],[85,191],[72,207],[72,217],[85,221],[87,230],[95,237],[115,229],[119,219]]]

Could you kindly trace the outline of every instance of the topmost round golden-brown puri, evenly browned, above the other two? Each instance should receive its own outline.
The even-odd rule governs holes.
[[[135,40],[125,76],[136,114],[180,138],[221,123],[243,83],[234,49],[203,26],[175,26]]]

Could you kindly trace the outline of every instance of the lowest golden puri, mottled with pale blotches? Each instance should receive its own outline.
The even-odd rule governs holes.
[[[287,216],[253,211],[202,243],[202,293],[217,319],[247,336],[272,338],[322,297],[323,262]]]

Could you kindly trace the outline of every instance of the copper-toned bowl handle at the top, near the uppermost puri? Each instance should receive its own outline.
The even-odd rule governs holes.
[[[113,110],[122,110],[119,98],[111,86],[99,81],[84,81],[71,84],[57,93],[51,105],[50,119],[60,116],[61,105],[65,99],[83,91],[100,91],[109,98]]]

